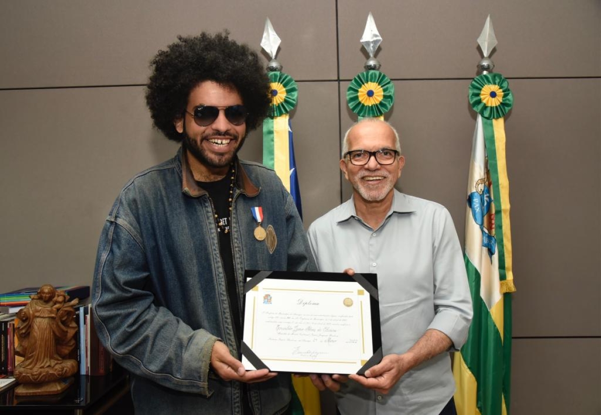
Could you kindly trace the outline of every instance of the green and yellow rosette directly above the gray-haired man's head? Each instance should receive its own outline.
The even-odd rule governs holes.
[[[394,84],[380,71],[365,71],[350,82],[346,100],[359,117],[381,117],[394,103]]]

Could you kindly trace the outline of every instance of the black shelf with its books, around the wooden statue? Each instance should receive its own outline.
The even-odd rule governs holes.
[[[74,383],[63,393],[46,396],[16,396],[18,384],[0,390],[0,413],[52,413],[59,414],[101,414],[133,413],[129,397],[129,376],[112,359],[100,344],[94,329],[92,310],[89,302],[89,286],[66,286],[67,295],[80,298],[74,307],[73,322],[78,325],[75,333],[75,348],[67,359],[78,360],[79,370],[73,376]],[[14,368],[23,360],[14,353],[19,339],[15,328],[19,326],[17,310],[10,307],[23,307],[28,298],[38,288],[25,288],[0,294],[0,375],[13,375]],[[56,291],[53,301],[58,301],[61,291]],[[64,292],[62,292],[64,294]],[[63,295],[63,301],[70,299]],[[67,298],[65,298],[67,297]],[[121,405],[124,410],[114,410]]]

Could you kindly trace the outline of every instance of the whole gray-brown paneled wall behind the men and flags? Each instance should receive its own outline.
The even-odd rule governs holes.
[[[400,189],[446,205],[463,235],[474,113],[466,91],[491,14],[506,118],[514,273],[514,415],[601,413],[601,4],[242,0],[0,2],[0,291],[90,283],[103,219],[136,172],[176,146],[150,124],[148,62],[177,34],[228,28],[257,50],[265,17],[299,83],[294,146],[305,222],[350,194],[337,162],[344,95],[377,58],[407,157]],[[267,62],[267,59],[266,59]],[[243,157],[260,161],[260,132]]]

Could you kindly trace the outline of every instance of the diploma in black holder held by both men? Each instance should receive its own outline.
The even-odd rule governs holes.
[[[382,360],[376,274],[246,271],[247,370],[364,374]]]

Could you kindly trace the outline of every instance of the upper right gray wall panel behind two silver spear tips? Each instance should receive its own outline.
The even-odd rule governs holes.
[[[391,78],[472,77],[477,38],[488,14],[499,44],[492,53],[506,77],[599,76],[599,2],[340,0],[340,74],[351,79],[364,55],[359,39],[372,12],[383,42],[376,58]]]

